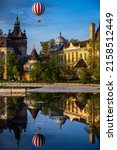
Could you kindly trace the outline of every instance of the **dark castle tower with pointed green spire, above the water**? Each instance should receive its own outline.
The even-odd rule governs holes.
[[[22,32],[18,16],[14,23],[13,31],[3,34],[0,30],[0,56],[4,59],[4,79],[7,79],[7,55],[14,52],[15,55],[25,62],[27,57],[27,36],[26,31]]]

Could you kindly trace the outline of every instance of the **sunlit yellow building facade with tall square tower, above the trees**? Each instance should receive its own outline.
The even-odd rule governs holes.
[[[92,57],[95,57],[95,58],[99,57],[100,56],[100,46],[99,46],[100,37],[99,37],[99,33],[97,37],[95,37],[95,34],[96,34],[95,24],[91,23],[89,26],[89,39],[90,40],[82,41],[82,42],[85,42],[84,47],[80,45],[80,42],[79,42],[79,45],[77,46],[74,46],[72,43],[70,43],[69,47],[63,48],[63,53],[61,54],[61,58],[63,55],[63,60],[66,61],[66,63],[69,66],[75,66],[80,59],[83,59],[87,64],[89,62],[89,59],[92,59]]]

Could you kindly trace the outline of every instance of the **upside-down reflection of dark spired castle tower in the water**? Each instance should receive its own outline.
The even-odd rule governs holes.
[[[14,132],[17,146],[21,138],[21,133],[26,131],[27,108],[23,103],[23,98],[1,98],[0,99],[0,132],[9,129]]]

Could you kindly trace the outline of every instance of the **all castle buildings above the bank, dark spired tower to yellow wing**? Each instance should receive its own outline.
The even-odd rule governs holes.
[[[100,26],[96,30],[95,24],[91,23],[89,35],[89,39],[85,41],[68,41],[60,33],[54,40],[51,51],[58,54],[60,62],[66,62],[70,67],[85,67],[89,60],[95,60],[96,57],[99,58],[100,56]],[[24,72],[26,73],[33,67],[35,62],[42,61],[35,48],[32,50],[31,55],[27,56],[26,31],[22,32],[18,16],[16,16],[13,31],[9,30],[8,34],[3,34],[0,30],[0,58],[4,60],[4,79],[7,79],[7,56],[10,52],[14,52],[22,60]]]

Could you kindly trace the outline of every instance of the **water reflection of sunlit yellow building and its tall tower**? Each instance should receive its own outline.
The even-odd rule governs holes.
[[[66,101],[64,116],[70,121],[85,123],[89,141],[95,143],[95,135],[100,139],[100,104],[99,94],[77,94]]]

